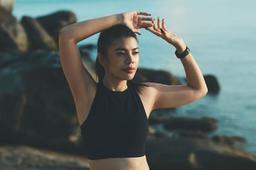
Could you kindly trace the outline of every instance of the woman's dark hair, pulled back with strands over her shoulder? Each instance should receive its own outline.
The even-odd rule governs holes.
[[[122,24],[118,24],[112,27],[109,27],[108,29],[104,29],[100,35],[97,42],[97,52],[98,54],[102,54],[103,58],[108,58],[108,48],[113,43],[113,41],[116,38],[128,38],[128,37],[134,37],[136,41],[138,42],[137,36],[133,31]],[[99,57],[97,56],[96,62],[95,62],[95,69],[96,69],[96,78],[98,78],[98,82],[102,81],[105,75],[105,70],[102,65],[99,63]],[[147,82],[147,81],[143,81]],[[141,93],[140,86],[148,86],[146,84],[140,84],[140,82],[134,82],[134,81],[127,81],[129,85],[134,87],[136,91]]]

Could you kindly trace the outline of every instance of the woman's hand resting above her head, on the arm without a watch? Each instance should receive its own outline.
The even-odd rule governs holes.
[[[129,11],[120,13],[121,21],[120,24],[124,24],[125,26],[129,27],[134,33],[138,33],[141,35],[138,28],[146,28],[152,27],[152,21],[154,18],[152,17],[139,17],[138,15],[146,15],[151,16],[150,13],[147,12],[136,12],[136,11]],[[143,22],[143,20],[150,20],[151,22]]]

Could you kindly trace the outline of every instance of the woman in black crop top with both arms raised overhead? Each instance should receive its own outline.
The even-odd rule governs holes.
[[[75,100],[91,170],[149,169],[145,140],[150,112],[188,104],[207,93],[202,72],[184,40],[166,29],[164,19],[160,24],[158,17],[156,26],[154,18],[138,15],[150,16],[150,13],[118,13],[70,24],[60,30],[61,65]],[[134,33],[140,34],[140,28],[177,49],[175,54],[184,66],[188,84],[168,86],[131,81],[139,65]],[[83,66],[77,42],[100,31],[97,83]]]

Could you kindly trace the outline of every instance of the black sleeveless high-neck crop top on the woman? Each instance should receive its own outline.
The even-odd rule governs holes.
[[[142,157],[148,135],[148,118],[138,92],[127,83],[112,91],[103,82],[97,91],[81,135],[88,159]]]

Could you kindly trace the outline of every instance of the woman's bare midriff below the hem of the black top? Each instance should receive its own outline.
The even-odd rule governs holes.
[[[88,159],[90,170],[149,170],[147,158],[103,158],[97,160]]]

